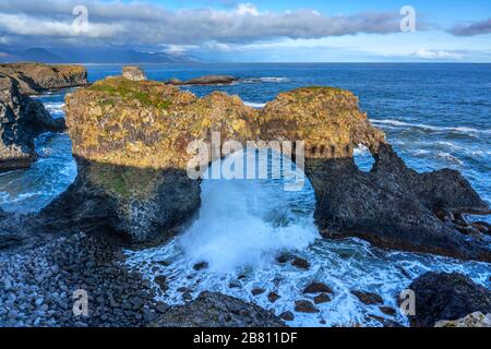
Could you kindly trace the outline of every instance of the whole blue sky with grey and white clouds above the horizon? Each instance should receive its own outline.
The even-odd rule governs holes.
[[[76,4],[88,31],[72,33]],[[416,32],[399,28],[404,5]],[[127,47],[205,61],[491,62],[491,4],[390,0],[2,0],[0,45]]]

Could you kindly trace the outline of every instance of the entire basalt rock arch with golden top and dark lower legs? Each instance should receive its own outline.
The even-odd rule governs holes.
[[[65,111],[79,177],[45,213],[104,220],[136,241],[148,240],[175,230],[200,207],[200,181],[185,172],[190,142],[209,142],[213,132],[240,143],[300,140],[324,237],[491,261],[479,237],[464,236],[435,215],[486,214],[488,204],[456,171],[407,168],[350,92],[306,87],[255,110],[223,93],[197,98],[158,82],[108,77],[68,95]],[[355,165],[359,144],[375,158],[370,172]]]

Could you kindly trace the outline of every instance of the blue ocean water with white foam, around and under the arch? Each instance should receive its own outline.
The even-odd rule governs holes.
[[[199,96],[224,91],[254,108],[301,86],[350,89],[410,167],[418,171],[457,169],[491,202],[491,64],[164,64],[143,69],[149,79],[159,81],[205,74],[237,76],[240,81],[232,85],[182,88]],[[121,67],[89,65],[87,70],[89,80],[96,81],[120,74]],[[55,117],[63,117],[64,94],[38,98]],[[67,134],[41,135],[36,146],[41,156],[31,169],[0,174],[2,208],[38,210],[74,180],[76,168]],[[370,169],[369,152],[360,148],[356,155],[357,164]],[[128,252],[128,266],[149,280],[156,274],[168,276],[169,290],[160,294],[168,303],[181,303],[178,289],[188,287],[192,296],[202,290],[221,291],[280,313],[292,310],[295,300],[306,299],[301,290],[308,282],[320,280],[333,288],[332,302],[319,305],[318,314],[296,313],[291,325],[376,326],[368,315],[383,315],[380,310],[361,304],[349,290],[375,291],[395,308],[400,290],[427,270],[458,270],[490,286],[488,264],[387,252],[357,239],[320,239],[308,182],[301,192],[285,192],[278,180],[205,180],[202,200],[206,205],[181,236],[156,249]],[[307,258],[311,268],[306,272],[276,263],[275,255],[285,250]],[[170,264],[148,263],[158,261]],[[209,267],[195,272],[192,266],[201,261]],[[240,287],[230,288],[230,282]],[[253,297],[255,287],[266,292]],[[266,297],[273,290],[282,296],[274,304]],[[406,323],[400,314],[395,320]]]

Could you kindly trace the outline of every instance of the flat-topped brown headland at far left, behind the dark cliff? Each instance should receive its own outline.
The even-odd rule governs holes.
[[[87,84],[87,71],[82,65],[7,63],[0,64],[0,73],[15,80],[20,92],[27,95]]]

